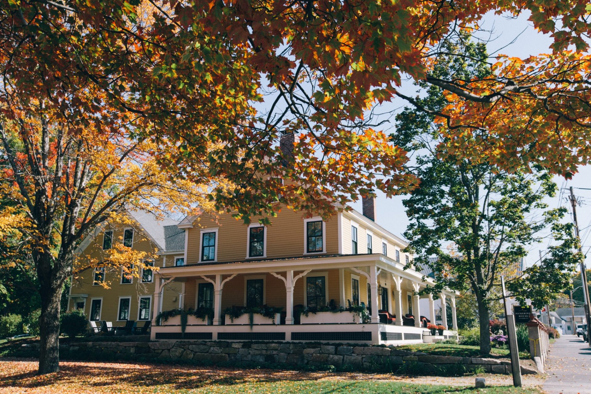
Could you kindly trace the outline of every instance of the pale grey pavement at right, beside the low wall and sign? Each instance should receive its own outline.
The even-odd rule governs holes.
[[[548,394],[591,394],[591,347],[583,337],[561,336],[550,346],[545,372]]]

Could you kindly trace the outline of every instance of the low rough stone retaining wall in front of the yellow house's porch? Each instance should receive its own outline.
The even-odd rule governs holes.
[[[24,345],[27,346],[27,345]],[[30,345],[29,345],[30,347]],[[30,349],[33,350],[33,349]],[[405,366],[421,373],[442,369],[470,372],[511,373],[508,360],[475,357],[433,356],[395,347],[318,343],[251,342],[85,342],[60,346],[62,359],[85,360],[180,360],[187,363],[274,364],[277,367],[327,367],[340,370],[392,372]],[[278,364],[278,365],[277,365]],[[521,366],[521,373],[538,373]]]

